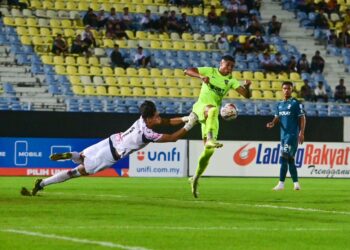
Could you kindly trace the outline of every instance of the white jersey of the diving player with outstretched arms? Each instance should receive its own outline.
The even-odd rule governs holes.
[[[150,142],[158,141],[162,135],[147,128],[145,121],[140,117],[128,130],[113,134],[110,138],[118,154],[123,158]]]

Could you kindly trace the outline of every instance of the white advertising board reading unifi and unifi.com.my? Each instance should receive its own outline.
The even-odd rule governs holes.
[[[129,176],[184,177],[187,176],[187,141],[150,143],[130,155]]]

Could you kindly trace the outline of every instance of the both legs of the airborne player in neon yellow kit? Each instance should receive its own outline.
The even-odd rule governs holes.
[[[201,122],[202,126],[202,138],[204,138],[204,150],[199,157],[196,173],[190,178],[192,194],[195,198],[198,198],[198,182],[199,178],[204,173],[205,169],[209,165],[209,160],[214,154],[215,148],[220,148],[223,145],[216,142],[216,138],[219,131],[219,119],[218,108],[213,106],[207,106],[205,109],[204,117],[206,119]]]

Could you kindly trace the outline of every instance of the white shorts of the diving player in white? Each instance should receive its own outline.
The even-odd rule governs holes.
[[[117,162],[113,159],[109,138],[84,149],[83,155],[85,170],[89,174],[100,172]]]

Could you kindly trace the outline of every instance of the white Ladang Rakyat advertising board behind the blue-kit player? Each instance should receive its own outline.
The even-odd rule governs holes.
[[[190,175],[202,150],[202,141],[190,141]],[[279,142],[227,141],[215,150],[204,175],[279,176],[280,155]],[[305,142],[299,145],[295,165],[301,177],[350,178],[350,144]]]

